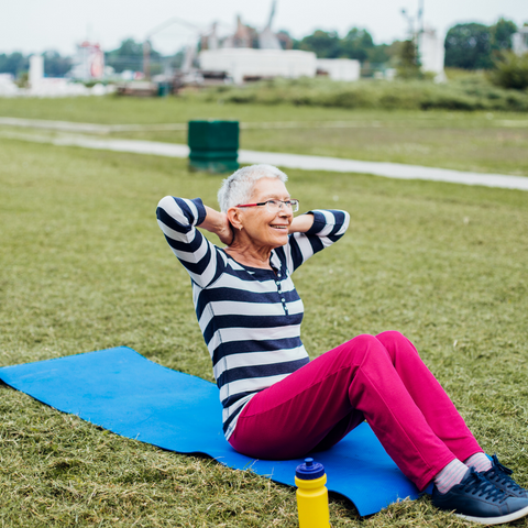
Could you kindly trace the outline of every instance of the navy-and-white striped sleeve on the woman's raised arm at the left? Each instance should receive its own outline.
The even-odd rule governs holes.
[[[201,287],[212,283],[222,273],[224,262],[217,248],[196,229],[206,218],[201,200],[166,196],[160,200],[156,216],[168,245],[190,278]]]

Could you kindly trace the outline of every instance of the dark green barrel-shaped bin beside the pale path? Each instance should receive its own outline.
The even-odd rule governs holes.
[[[232,173],[239,168],[238,121],[189,121],[189,168]]]

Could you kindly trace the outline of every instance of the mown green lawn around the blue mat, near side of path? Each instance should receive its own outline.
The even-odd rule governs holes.
[[[400,330],[483,448],[528,485],[528,194],[288,174],[302,210],[352,218],[295,275],[310,355]],[[0,364],[128,345],[212,380],[189,279],[155,207],[167,194],[215,206],[219,182],[184,161],[1,140]],[[0,504],[2,527],[297,526],[289,487],[118,437],[6,385]],[[427,498],[369,519],[336,497],[330,510],[333,527],[469,526]]]

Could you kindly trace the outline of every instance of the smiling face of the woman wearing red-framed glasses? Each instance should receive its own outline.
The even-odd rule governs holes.
[[[289,193],[279,179],[261,178],[253,187],[249,204],[289,199]],[[285,206],[276,212],[270,211],[266,206],[257,206],[239,208],[239,218],[255,245],[273,249],[288,242],[288,230],[294,213]]]

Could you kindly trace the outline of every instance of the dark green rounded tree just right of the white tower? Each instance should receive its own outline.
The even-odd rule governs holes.
[[[463,69],[490,69],[491,31],[487,25],[457,24],[446,35],[446,66]]]

